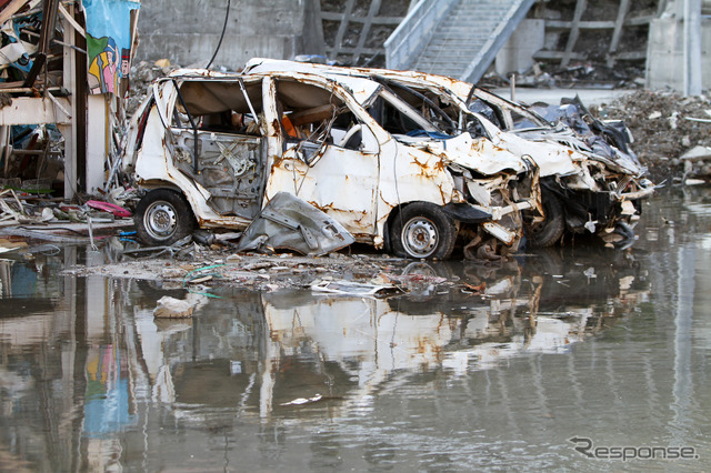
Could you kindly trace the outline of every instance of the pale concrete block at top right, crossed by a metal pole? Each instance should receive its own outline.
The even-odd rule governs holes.
[[[711,89],[711,19],[701,20],[701,74],[703,89]],[[684,90],[684,23],[658,18],[650,24],[647,52],[647,87]]]

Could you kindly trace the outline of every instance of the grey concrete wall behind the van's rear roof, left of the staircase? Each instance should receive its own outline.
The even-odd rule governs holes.
[[[231,0],[224,39],[212,68],[234,70],[253,57],[291,59],[323,53],[323,44],[316,37],[312,1]],[[183,67],[206,67],[220,40],[227,3],[143,0],[137,60],[167,58]]]

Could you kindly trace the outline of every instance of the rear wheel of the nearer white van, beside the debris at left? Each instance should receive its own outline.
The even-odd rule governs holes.
[[[196,219],[186,198],[176,191],[157,189],[136,205],[136,233],[143,243],[171,245],[191,234]]]

